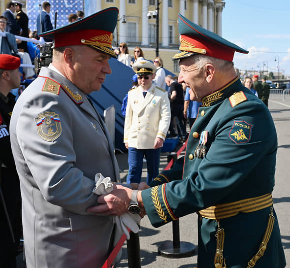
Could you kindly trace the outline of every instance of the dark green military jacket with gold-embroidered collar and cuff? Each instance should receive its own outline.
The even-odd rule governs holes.
[[[238,78],[203,98],[202,103],[184,159],[163,171],[152,182],[152,188],[142,191],[147,215],[155,227],[212,205],[273,191],[277,134],[266,106]],[[270,206],[219,221],[225,230],[227,268],[247,267],[258,251],[269,212]],[[198,267],[214,267],[218,223],[199,216],[195,228],[198,228]],[[285,267],[277,218],[267,249],[256,267]]]

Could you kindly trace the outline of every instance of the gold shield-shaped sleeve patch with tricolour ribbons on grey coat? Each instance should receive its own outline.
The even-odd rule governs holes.
[[[55,112],[44,112],[35,118],[38,135],[47,141],[54,141],[62,134],[61,119]]]

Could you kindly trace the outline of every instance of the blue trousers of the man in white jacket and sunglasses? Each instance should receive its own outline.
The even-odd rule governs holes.
[[[156,178],[159,174],[160,151],[158,149],[136,149],[129,147],[128,164],[129,172],[127,183],[140,183],[143,167],[143,156],[145,155],[147,162],[147,184]]]

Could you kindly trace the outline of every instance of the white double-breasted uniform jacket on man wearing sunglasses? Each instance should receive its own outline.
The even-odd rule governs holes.
[[[154,140],[165,140],[170,125],[167,92],[152,84],[145,98],[141,86],[128,93],[124,143],[137,149],[153,149]]]

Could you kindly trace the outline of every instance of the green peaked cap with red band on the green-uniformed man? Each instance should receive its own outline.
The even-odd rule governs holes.
[[[178,31],[181,52],[175,54],[172,60],[202,54],[232,62],[235,51],[249,53],[249,51],[227,41],[220,35],[196,25],[181,14],[178,14]]]

